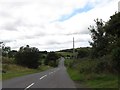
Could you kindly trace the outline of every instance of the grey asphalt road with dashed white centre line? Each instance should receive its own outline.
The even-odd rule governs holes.
[[[26,75],[3,81],[4,88],[75,88],[64,66],[64,58],[60,59],[57,68],[36,74]]]

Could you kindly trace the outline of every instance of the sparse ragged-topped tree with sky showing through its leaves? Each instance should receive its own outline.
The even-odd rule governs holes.
[[[101,57],[107,53],[108,39],[104,29],[105,24],[102,19],[94,20],[96,26],[90,26],[88,29],[91,32],[93,42],[90,42],[92,46],[92,57]]]

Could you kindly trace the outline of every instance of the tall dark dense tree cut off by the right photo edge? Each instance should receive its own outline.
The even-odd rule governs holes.
[[[120,12],[110,17],[105,26],[109,38],[109,52],[112,56],[113,68],[120,72]]]

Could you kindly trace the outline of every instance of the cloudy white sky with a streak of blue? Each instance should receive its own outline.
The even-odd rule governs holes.
[[[40,51],[89,47],[88,27],[94,19],[108,21],[119,0],[0,0],[0,41],[18,50]]]

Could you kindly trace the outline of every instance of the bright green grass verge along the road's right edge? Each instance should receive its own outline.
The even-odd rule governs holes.
[[[83,74],[75,69],[67,69],[74,81],[80,81],[86,88],[118,88],[118,76],[112,74]]]

